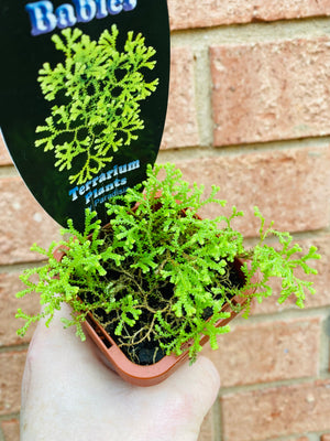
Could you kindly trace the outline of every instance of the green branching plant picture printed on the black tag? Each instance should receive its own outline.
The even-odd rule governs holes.
[[[155,50],[145,45],[144,36],[128,33],[123,52],[119,52],[119,31],[103,31],[92,41],[79,29],[65,29],[62,37],[52,36],[65,62],[52,68],[44,63],[38,82],[52,115],[38,126],[41,137],[35,147],[53,150],[59,171],[73,170],[72,184],[84,184],[107,163],[112,153],[129,147],[144,129],[140,101],[155,92],[158,78],[146,82],[145,72],[155,67]]]

